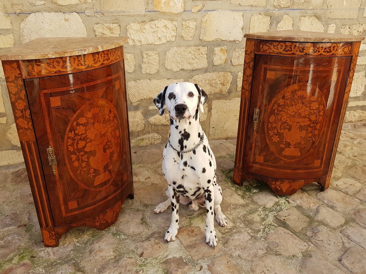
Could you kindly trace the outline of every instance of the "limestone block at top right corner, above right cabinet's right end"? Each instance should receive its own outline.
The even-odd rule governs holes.
[[[357,18],[361,0],[327,0],[326,16],[328,18]]]

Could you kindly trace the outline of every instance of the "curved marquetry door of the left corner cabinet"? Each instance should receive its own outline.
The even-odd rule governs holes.
[[[132,174],[123,61],[25,82],[55,226],[96,216],[126,198]]]

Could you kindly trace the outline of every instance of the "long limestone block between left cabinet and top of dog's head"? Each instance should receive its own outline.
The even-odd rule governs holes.
[[[140,100],[153,99],[158,93],[172,83],[183,82],[184,79],[142,79],[127,82],[128,100],[136,103]]]

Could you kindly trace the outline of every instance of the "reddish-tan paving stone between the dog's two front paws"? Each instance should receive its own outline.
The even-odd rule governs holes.
[[[194,261],[208,258],[220,251],[219,246],[216,246],[214,249],[206,244],[205,232],[199,226],[185,226],[180,228],[177,237]]]

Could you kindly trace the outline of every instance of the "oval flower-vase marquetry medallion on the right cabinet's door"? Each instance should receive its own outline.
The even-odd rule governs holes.
[[[323,93],[308,83],[296,83],[276,94],[265,116],[270,149],[285,161],[296,161],[315,148],[324,130]]]

